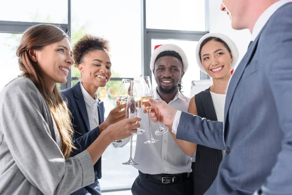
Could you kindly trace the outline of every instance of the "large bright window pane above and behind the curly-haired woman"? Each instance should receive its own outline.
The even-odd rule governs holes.
[[[132,78],[141,74],[140,6],[140,0],[72,1],[73,44],[86,33],[108,39],[111,77]]]

